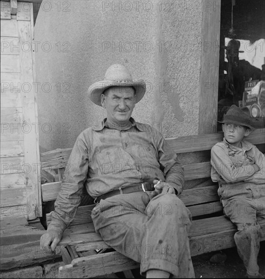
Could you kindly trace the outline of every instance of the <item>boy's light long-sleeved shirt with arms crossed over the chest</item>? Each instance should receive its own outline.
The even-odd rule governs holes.
[[[265,159],[258,148],[247,141],[242,147],[230,145],[225,138],[211,149],[211,179],[220,184],[244,181],[253,184],[265,183]],[[252,164],[259,166],[255,172]]]

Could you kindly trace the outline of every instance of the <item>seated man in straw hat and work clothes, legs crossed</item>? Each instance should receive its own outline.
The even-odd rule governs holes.
[[[41,248],[55,250],[85,185],[97,202],[96,231],[107,245],[139,262],[141,274],[194,277],[187,236],[191,213],[177,197],[183,168],[157,130],[131,117],[145,83],[134,82],[125,66],[115,64],[88,93],[107,117],[78,136]]]

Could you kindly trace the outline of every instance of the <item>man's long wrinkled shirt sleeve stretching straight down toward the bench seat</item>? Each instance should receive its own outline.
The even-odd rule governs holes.
[[[55,210],[48,231],[61,235],[72,222],[81,202],[84,182],[88,173],[88,149],[82,134],[77,138],[65,167],[62,186],[55,201]]]

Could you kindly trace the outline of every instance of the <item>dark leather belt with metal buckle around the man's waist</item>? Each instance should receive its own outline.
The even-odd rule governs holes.
[[[144,182],[141,184],[136,184],[136,185],[132,185],[129,187],[121,187],[117,190],[113,190],[110,191],[104,195],[101,195],[99,197],[95,198],[95,202],[99,202],[101,199],[106,199],[112,196],[116,196],[116,195],[120,195],[120,194],[129,194],[129,193],[133,193],[133,192],[140,192],[140,191],[153,191],[154,190],[154,184],[153,183],[149,183],[149,182]]]

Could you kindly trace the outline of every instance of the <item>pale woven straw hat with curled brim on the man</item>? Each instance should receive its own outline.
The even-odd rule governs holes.
[[[95,104],[101,106],[101,94],[112,86],[133,86],[136,102],[140,101],[145,93],[145,82],[143,80],[133,81],[131,74],[124,65],[113,64],[108,67],[103,81],[98,81],[88,88],[88,95]]]

